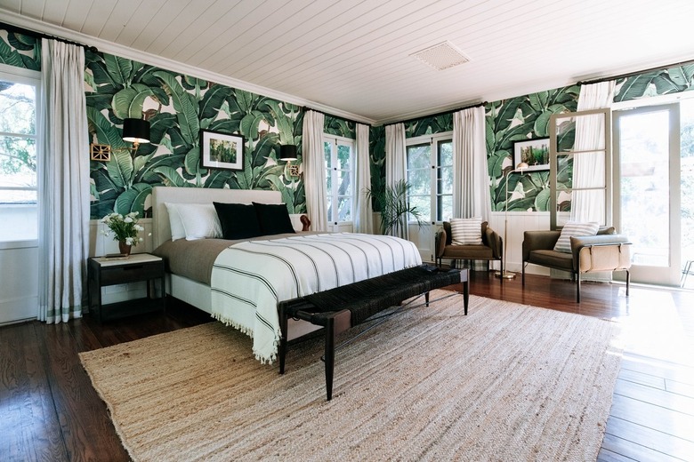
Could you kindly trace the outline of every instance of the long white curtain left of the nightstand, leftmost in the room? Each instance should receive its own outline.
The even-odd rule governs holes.
[[[81,317],[89,251],[89,132],[85,51],[43,39],[44,110],[39,139],[39,315],[46,323]]]

